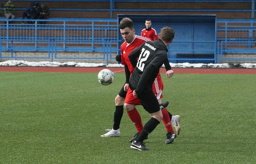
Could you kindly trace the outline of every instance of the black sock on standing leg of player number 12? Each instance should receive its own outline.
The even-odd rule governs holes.
[[[140,135],[135,139],[136,142],[142,142],[158,124],[160,124],[160,122],[156,118],[151,117],[150,120],[144,125]]]

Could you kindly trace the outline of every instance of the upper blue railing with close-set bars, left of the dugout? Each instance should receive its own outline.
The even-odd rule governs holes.
[[[115,19],[116,20],[116,19]],[[5,21],[5,19],[0,19]],[[46,22],[58,21],[59,24],[38,24],[40,20],[33,20],[35,24],[10,24],[12,20],[7,20],[6,24],[0,24],[0,39],[23,39],[23,40],[38,40],[54,39],[62,41],[63,49],[66,51],[66,42],[80,44],[82,40],[92,41],[92,51],[94,50],[94,42],[102,40],[117,40],[116,25],[109,25],[113,19],[57,19],[44,20]],[[15,19],[14,21],[31,21]],[[72,24],[72,22],[81,23],[79,25]],[[88,24],[89,22],[89,24]],[[106,22],[108,25],[100,25],[99,23]],[[87,23],[84,25],[84,23]],[[115,22],[116,23],[116,22]],[[36,43],[37,44],[37,43]],[[8,49],[9,42],[6,42]],[[22,47],[20,47],[22,49]],[[79,49],[78,49],[79,50]]]

